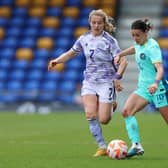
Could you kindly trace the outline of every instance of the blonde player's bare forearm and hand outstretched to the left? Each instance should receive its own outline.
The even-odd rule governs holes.
[[[56,64],[64,63],[64,62],[68,61],[69,59],[73,58],[75,55],[77,55],[77,52],[75,52],[72,49],[68,50],[67,52],[61,54],[56,59],[49,61],[48,70],[51,70]]]

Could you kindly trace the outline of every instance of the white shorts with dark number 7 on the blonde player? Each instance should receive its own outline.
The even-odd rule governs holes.
[[[83,81],[81,96],[88,94],[97,95],[99,101],[104,103],[111,103],[116,100],[116,92],[113,83],[93,84]]]

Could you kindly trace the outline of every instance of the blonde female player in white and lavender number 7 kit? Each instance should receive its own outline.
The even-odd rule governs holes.
[[[102,10],[93,10],[89,14],[91,30],[81,35],[73,47],[58,58],[51,60],[48,69],[52,70],[59,63],[84,52],[86,69],[82,83],[82,100],[90,131],[99,148],[94,156],[106,155],[106,143],[102,135],[100,123],[107,124],[111,119],[116,90],[121,91],[119,79],[127,62],[121,60],[119,67],[114,65],[114,57],[121,52],[114,37],[105,31],[111,28],[107,15]]]

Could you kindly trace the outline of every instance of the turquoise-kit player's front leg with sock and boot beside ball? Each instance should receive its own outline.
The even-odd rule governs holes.
[[[125,103],[123,116],[125,118],[128,137],[132,143],[132,146],[128,151],[128,157],[144,153],[144,149],[140,143],[138,122],[134,114],[142,110],[147,104],[148,102],[144,98],[135,93],[132,93]]]

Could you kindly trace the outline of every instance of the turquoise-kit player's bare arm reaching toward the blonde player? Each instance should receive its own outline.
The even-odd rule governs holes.
[[[115,64],[120,64],[121,57],[127,56],[127,55],[133,55],[135,54],[135,48],[129,47],[123,51],[121,51],[114,59]]]

